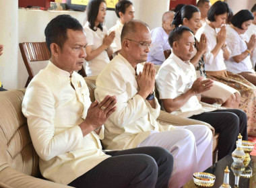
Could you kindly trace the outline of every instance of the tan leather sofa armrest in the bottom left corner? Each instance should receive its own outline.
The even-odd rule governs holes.
[[[32,177],[26,175],[24,173],[20,173],[11,167],[7,167],[0,171],[0,182],[6,185],[7,187],[19,187],[19,188],[64,188],[70,187],[67,185],[61,185],[59,183],[54,183],[52,181],[47,181],[43,179],[38,179],[36,177]]]

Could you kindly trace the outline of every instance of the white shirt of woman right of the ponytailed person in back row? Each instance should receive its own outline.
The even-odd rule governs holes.
[[[203,54],[205,59],[205,71],[224,71],[226,70],[226,65],[224,63],[223,50],[220,49],[216,57],[212,54],[217,44],[217,34],[216,30],[209,26],[206,22],[203,23],[203,26],[197,30],[195,38],[200,41],[201,34],[205,34],[207,37],[207,51]]]

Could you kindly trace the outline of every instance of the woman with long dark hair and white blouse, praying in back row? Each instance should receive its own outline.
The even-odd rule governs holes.
[[[99,75],[110,62],[113,54],[110,44],[115,38],[115,32],[108,35],[106,26],[103,26],[106,16],[106,2],[104,0],[90,0],[87,6],[87,19],[84,31],[86,32],[86,75]]]

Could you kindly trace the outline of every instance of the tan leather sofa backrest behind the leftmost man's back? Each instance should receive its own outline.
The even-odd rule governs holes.
[[[24,92],[25,89],[0,92],[0,171],[11,167],[38,177],[38,155],[22,113]]]

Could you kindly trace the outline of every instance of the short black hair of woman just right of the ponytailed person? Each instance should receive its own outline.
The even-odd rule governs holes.
[[[223,1],[216,1],[212,7],[210,7],[208,13],[207,13],[207,19],[211,22],[216,21],[214,18],[214,15],[221,15],[224,13],[230,13],[230,8],[228,7],[228,4]]]

